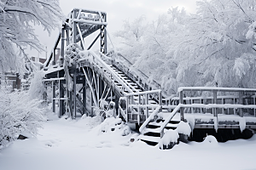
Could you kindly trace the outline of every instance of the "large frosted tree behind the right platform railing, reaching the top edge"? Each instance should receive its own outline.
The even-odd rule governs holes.
[[[186,86],[255,88],[256,1],[197,2],[177,36],[177,81]],[[193,80],[191,79],[193,77]]]

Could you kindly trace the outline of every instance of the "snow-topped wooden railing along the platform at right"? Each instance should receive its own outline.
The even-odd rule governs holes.
[[[193,98],[184,98],[184,93],[186,92],[210,92],[212,93],[212,97],[193,97]],[[242,109],[251,109],[253,110],[253,116],[255,116],[255,108],[253,105],[255,105],[255,93],[256,89],[253,88],[208,88],[208,87],[182,87],[178,88],[179,92],[179,99],[178,103],[183,104],[183,105],[191,105],[189,108],[190,111],[193,113],[193,108],[199,108],[202,112],[207,112],[211,111],[212,109],[212,114],[213,116],[218,116],[218,113],[225,114],[226,111],[229,112],[229,109],[232,109],[233,114],[238,113],[240,116],[243,116],[244,111]],[[218,92],[222,93],[221,96],[218,96]],[[226,95],[224,96],[223,93],[234,93],[236,95]],[[245,95],[247,94],[247,95]],[[253,102],[250,102],[251,106],[248,107],[241,107],[239,105],[248,105],[245,104],[244,99],[253,99]],[[227,102],[229,100],[229,102]],[[247,99],[248,100],[248,99]],[[195,101],[198,101],[195,103]],[[173,99],[173,102],[175,102],[175,99]],[[195,107],[195,104],[199,105],[198,107]],[[211,104],[214,105],[221,105],[221,107],[200,107],[200,105],[207,105],[210,106]],[[233,105],[233,106],[228,106],[228,105]],[[239,108],[238,111],[236,111],[236,108]],[[204,111],[202,111],[204,109]],[[221,111],[219,111],[221,110]],[[226,111],[224,111],[226,110]],[[181,108],[180,114],[181,114],[181,120],[184,119],[183,116],[184,113],[184,107]]]

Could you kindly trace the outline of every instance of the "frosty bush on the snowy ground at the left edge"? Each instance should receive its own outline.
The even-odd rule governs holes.
[[[17,139],[22,132],[37,134],[46,121],[41,101],[30,99],[27,92],[8,93],[0,89],[0,148]]]

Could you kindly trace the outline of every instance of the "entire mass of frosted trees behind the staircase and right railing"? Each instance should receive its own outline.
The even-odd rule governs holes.
[[[199,1],[196,14],[171,8],[152,22],[125,22],[116,34],[126,44],[119,51],[168,94],[180,86],[256,88],[255,6],[255,0]],[[143,29],[138,39],[125,34],[133,27]]]

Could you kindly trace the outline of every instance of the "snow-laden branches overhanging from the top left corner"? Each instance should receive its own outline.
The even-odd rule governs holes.
[[[55,27],[60,27],[62,18],[59,0],[1,0],[0,70],[16,71],[20,59],[28,58],[24,52],[27,45],[44,50],[33,26],[41,25],[50,33]]]

